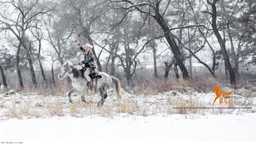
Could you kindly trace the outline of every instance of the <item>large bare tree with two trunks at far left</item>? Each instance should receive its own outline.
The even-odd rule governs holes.
[[[35,71],[33,68],[33,60],[32,60],[32,43],[29,38],[26,36],[29,28],[32,28],[34,25],[35,20],[38,20],[38,17],[44,15],[51,10],[53,7],[47,7],[47,5],[42,5],[38,0],[35,1],[4,1],[1,2],[0,5],[3,9],[13,7],[14,13],[17,14],[18,17],[8,17],[7,13],[0,13],[1,20],[0,23],[5,25],[5,29],[9,30],[14,34],[17,40],[20,41],[17,50],[17,56],[20,55],[20,48],[26,50],[26,56],[29,61],[29,68],[32,75],[32,82],[34,86],[37,86]],[[3,10],[8,11],[8,10]],[[17,58],[17,69],[19,70],[19,58]],[[19,74],[19,77],[21,74]],[[20,86],[23,87],[22,78],[20,77]]]

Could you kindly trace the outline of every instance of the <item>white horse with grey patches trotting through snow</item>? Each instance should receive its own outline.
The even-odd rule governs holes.
[[[93,80],[93,87],[99,90],[101,95],[101,101],[98,101],[97,107],[103,106],[104,101],[107,98],[107,89],[110,87],[116,89],[117,98],[120,99],[120,81],[116,77],[110,76],[104,72],[99,72],[98,74],[101,75],[101,78],[98,80]],[[87,80],[82,77],[82,72],[77,68],[74,68],[72,65],[69,65],[68,62],[65,62],[64,65],[62,65],[58,78],[59,80],[63,80],[65,77],[71,78],[71,84],[73,87],[73,89],[68,92],[69,101],[72,103],[71,93],[77,90],[81,92],[82,101],[86,104],[89,104],[89,102],[85,101],[85,95],[87,94],[88,86]]]

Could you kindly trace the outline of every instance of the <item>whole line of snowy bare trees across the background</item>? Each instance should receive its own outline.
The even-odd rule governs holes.
[[[140,55],[147,52],[152,54],[155,77],[157,59],[165,52],[170,58],[163,64],[164,78],[173,67],[176,78],[180,71],[183,79],[191,80],[194,58],[215,78],[224,62],[233,86],[239,83],[240,65],[256,63],[254,0],[7,0],[0,1],[0,7],[5,87],[5,73],[12,71],[24,88],[25,69],[38,86],[35,66],[45,83],[56,83],[54,65],[80,55],[75,37],[97,47],[92,52],[99,71],[115,75],[116,66],[122,67],[128,85],[133,84]],[[162,44],[167,49],[159,49]],[[102,56],[106,53],[107,58]],[[210,64],[202,55],[211,58]],[[51,80],[45,74],[46,61]]]

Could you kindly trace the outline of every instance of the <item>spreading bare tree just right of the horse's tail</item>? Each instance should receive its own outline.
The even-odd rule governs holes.
[[[145,22],[146,19],[143,19]],[[117,49],[111,52],[111,49],[105,49],[107,52],[110,52],[111,55],[115,55],[119,58],[120,65],[125,71],[125,78],[129,86],[133,86],[132,76],[137,70],[137,63],[139,62],[138,56],[145,50],[146,46],[151,42],[151,40],[143,40],[145,35],[146,28],[145,23],[140,20],[131,20],[131,15],[125,18],[125,23],[122,23],[122,26],[119,28],[119,31],[116,31],[116,42],[119,43],[120,52],[117,53]],[[135,29],[139,28],[139,30]],[[141,41],[143,46],[140,46]],[[116,43],[117,44],[117,43]],[[98,44],[99,46],[99,44]],[[121,49],[121,47],[123,49]],[[117,47],[116,47],[117,48]]]

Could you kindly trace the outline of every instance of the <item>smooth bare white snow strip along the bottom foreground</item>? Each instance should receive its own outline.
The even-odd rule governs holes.
[[[256,114],[17,118],[0,122],[2,142],[256,141]]]

